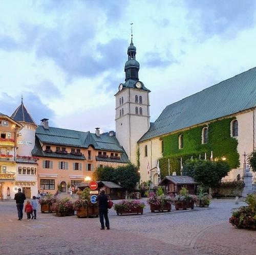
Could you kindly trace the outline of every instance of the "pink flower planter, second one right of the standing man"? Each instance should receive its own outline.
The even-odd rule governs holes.
[[[172,198],[163,194],[157,196],[156,193],[150,193],[150,198],[147,199],[147,203],[150,204],[150,210],[152,213],[154,213],[155,211],[170,212],[170,210],[172,210]]]

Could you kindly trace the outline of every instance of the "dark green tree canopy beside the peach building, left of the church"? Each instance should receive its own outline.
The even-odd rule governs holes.
[[[140,181],[140,174],[138,173],[138,168],[135,165],[129,164],[117,168],[97,168],[94,172],[94,179],[101,181],[113,181],[125,190],[131,192],[134,190],[137,182]]]

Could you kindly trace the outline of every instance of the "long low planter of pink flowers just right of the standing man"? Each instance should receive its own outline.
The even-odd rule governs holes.
[[[123,214],[143,214],[145,204],[139,200],[122,200],[120,203],[114,204],[114,210],[117,215]]]

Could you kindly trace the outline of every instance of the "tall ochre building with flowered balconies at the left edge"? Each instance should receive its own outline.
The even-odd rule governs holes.
[[[0,112],[0,200],[14,198],[17,192],[17,135],[22,128],[22,124]]]

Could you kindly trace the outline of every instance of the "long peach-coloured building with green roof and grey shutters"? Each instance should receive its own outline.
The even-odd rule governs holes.
[[[38,189],[55,193],[68,192],[68,186],[78,186],[93,178],[98,167],[129,163],[114,132],[100,134],[49,127],[42,119],[35,132],[32,155],[37,157]],[[90,179],[89,178],[89,179]]]

